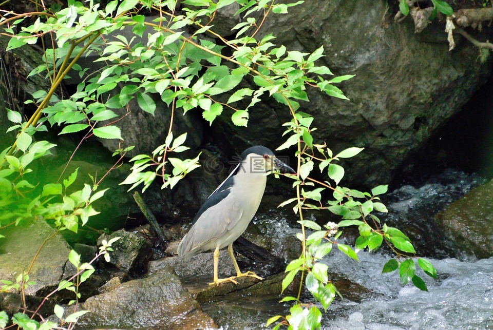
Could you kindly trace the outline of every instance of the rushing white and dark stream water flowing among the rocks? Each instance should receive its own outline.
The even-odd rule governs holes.
[[[433,222],[435,213],[483,182],[448,170],[421,186],[403,186],[383,197],[389,209],[385,221],[409,234],[418,254],[437,268],[438,278],[418,270],[429,290],[422,292],[412,284],[403,286],[396,272],[382,274],[391,258],[385,250],[359,251],[360,262],[356,262],[334,249],[324,259],[331,273],[372,293],[358,302],[337,298],[323,316],[323,329],[493,329],[493,258],[465,255]],[[271,250],[290,259],[293,248],[286,242],[295,242],[297,229],[291,228],[293,221],[284,212],[261,211],[254,221],[256,229],[246,236],[271,238]],[[203,307],[224,329],[255,329],[270,316],[286,315],[289,304],[278,304],[278,299],[237,296]]]

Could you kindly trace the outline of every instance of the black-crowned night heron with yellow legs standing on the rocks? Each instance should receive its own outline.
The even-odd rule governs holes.
[[[255,146],[245,150],[239,164],[205,201],[192,227],[181,240],[178,255],[185,261],[199,252],[214,250],[214,282],[210,285],[226,281],[236,284],[235,279],[242,276],[262,279],[253,271],[241,273],[233,255],[233,242],[243,234],[255,216],[266,189],[266,173],[275,169],[295,172],[266,147]],[[219,250],[225,246],[235,266],[236,276],[218,279]]]

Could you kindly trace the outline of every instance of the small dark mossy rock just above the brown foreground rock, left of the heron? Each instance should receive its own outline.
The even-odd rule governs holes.
[[[109,263],[123,271],[145,273],[150,257],[149,241],[134,232],[117,230],[111,235],[103,235],[98,242],[102,239],[109,241],[115,237],[120,239],[111,245],[113,251],[110,253]]]

